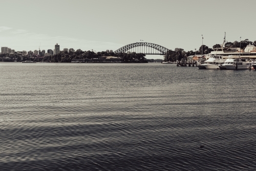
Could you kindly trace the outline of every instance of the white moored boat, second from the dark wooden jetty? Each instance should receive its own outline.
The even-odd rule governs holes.
[[[221,70],[246,70],[249,69],[249,63],[246,61],[242,61],[240,56],[229,56],[222,65],[220,65]]]

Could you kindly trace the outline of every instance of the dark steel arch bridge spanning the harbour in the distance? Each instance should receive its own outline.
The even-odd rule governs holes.
[[[114,53],[124,53],[124,52],[136,52],[144,53],[146,55],[165,55],[169,49],[149,42],[136,42],[134,44],[129,44],[119,48],[114,51]]]

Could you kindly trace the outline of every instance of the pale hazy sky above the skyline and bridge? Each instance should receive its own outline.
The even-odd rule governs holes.
[[[117,50],[151,42],[170,50],[256,40],[255,0],[1,0],[0,46],[15,51]],[[162,58],[147,55],[146,58]]]

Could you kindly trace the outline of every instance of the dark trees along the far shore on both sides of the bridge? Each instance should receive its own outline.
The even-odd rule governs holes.
[[[245,49],[247,45],[254,45],[256,46],[256,40],[255,41],[249,41],[248,39],[241,41],[241,49]],[[166,55],[164,56],[164,60],[166,61],[176,61],[181,60],[181,58],[185,58],[187,56],[196,55],[196,54],[208,54],[211,51],[214,51],[213,49],[221,48],[222,45],[216,44],[212,46],[212,48],[209,48],[206,45],[200,46],[198,51],[184,51],[184,49],[178,49],[177,51],[169,50]],[[225,43],[225,49],[230,48],[239,48],[240,47],[240,41],[234,41],[234,42],[226,42]],[[127,53],[114,53],[114,52],[94,52],[94,51],[82,51],[81,49],[76,50],[75,52],[67,52],[67,51],[61,51],[58,54],[45,56],[44,58],[38,57],[37,55],[32,56],[25,56],[20,55],[18,53],[13,54],[0,54],[0,61],[25,61],[25,60],[34,60],[34,61],[49,61],[49,62],[71,62],[72,59],[84,59],[87,61],[90,61],[94,58],[106,58],[108,56],[114,56],[119,57],[120,61],[123,62],[147,62],[147,59],[145,58],[145,54],[143,53],[136,53],[136,52],[127,52]]]

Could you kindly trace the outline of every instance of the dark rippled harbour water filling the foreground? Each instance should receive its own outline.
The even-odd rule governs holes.
[[[0,62],[0,73],[0,170],[256,167],[255,71]]]

